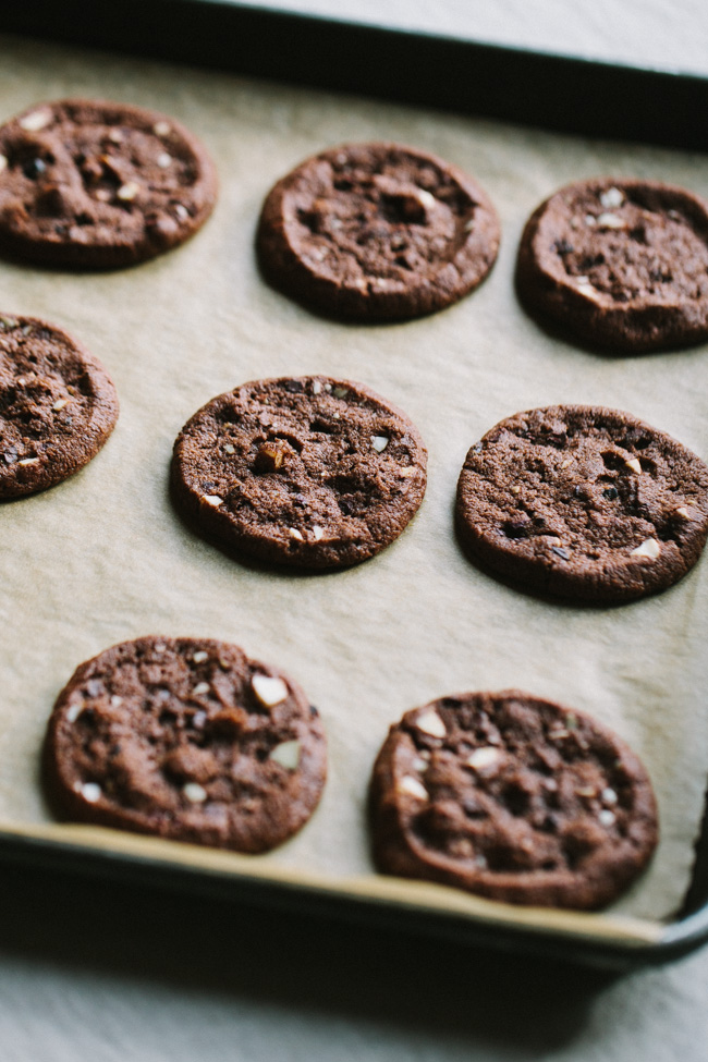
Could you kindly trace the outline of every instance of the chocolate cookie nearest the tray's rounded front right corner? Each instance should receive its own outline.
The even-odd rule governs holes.
[[[406,712],[376,760],[370,815],[380,870],[541,906],[610,903],[658,837],[634,753],[588,716],[516,689]]]

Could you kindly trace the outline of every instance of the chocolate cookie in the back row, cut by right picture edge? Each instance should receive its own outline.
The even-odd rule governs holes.
[[[656,181],[570,184],[538,207],[518,248],[532,316],[612,351],[708,338],[708,203]]]

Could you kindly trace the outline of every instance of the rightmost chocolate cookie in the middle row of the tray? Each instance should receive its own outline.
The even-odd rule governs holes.
[[[595,603],[676,583],[708,534],[708,468],[643,420],[601,406],[518,413],[467,453],[457,530],[518,589]]]

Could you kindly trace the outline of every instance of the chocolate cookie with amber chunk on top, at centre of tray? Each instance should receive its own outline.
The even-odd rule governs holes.
[[[303,567],[364,561],[423,500],[427,454],[404,413],[361,383],[256,380],[203,406],[174,444],[178,505],[209,537]]]

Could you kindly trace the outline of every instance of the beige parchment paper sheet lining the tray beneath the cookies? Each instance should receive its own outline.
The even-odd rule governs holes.
[[[221,180],[206,228],[154,263],[98,276],[0,263],[0,309],[66,328],[102,359],[121,399],[119,425],[86,469],[0,509],[0,820],[39,835],[50,827],[38,752],[53,699],[81,661],[147,633],[211,636],[280,664],[319,706],[330,777],[314,818],[256,858],[75,830],[85,843],[172,850],[205,867],[333,888],[356,881],[363,892],[369,882],[373,895],[492,917],[497,905],[452,890],[374,877],[365,796],[376,752],[403,711],[443,694],[518,686],[613,727],[644,758],[659,799],[662,839],[648,874],[609,916],[567,924],[593,932],[626,917],[655,928],[671,918],[689,880],[706,788],[708,561],[668,593],[623,608],[548,605],[473,567],[456,546],[452,509],[468,447],[502,417],[538,405],[624,408],[708,457],[708,349],[588,354],[541,332],[512,288],[521,229],[554,188],[613,173],[708,196],[705,158],[10,37],[0,39],[0,71],[2,120],[70,95],[156,108],[202,136]],[[369,138],[457,163],[501,216],[489,280],[428,319],[321,320],[270,291],[255,268],[254,227],[270,185],[326,146]],[[236,563],[182,525],[167,490],[172,442],[204,402],[249,379],[305,373],[369,384],[413,417],[429,450],[427,495],[404,535],[364,565],[319,576]]]

